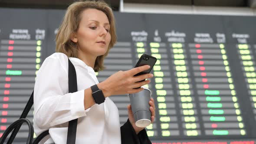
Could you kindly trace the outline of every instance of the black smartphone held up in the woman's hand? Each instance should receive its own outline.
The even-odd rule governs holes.
[[[142,65],[150,65],[150,69],[147,69],[143,72],[139,72],[134,76],[144,75],[144,74],[149,73],[156,62],[157,62],[157,58],[155,58],[154,56],[149,56],[147,54],[141,55],[140,59],[138,60],[138,62],[135,65],[135,68],[139,67],[139,66],[142,66]],[[144,81],[144,80],[142,80],[142,81]],[[142,82],[142,81],[139,81],[139,82]]]

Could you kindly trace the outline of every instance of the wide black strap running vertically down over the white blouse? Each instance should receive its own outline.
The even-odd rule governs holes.
[[[77,92],[75,67],[69,60],[69,93]],[[67,144],[75,144],[77,119],[69,121]]]

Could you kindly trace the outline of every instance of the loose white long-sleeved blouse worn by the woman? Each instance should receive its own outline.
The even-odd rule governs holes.
[[[121,144],[118,108],[105,102],[84,109],[84,90],[98,84],[92,67],[69,58],[75,66],[78,92],[68,93],[68,57],[54,53],[36,75],[33,126],[36,135],[49,129],[40,144],[66,144],[68,121],[78,118],[75,144]],[[47,140],[48,139],[48,140]]]

